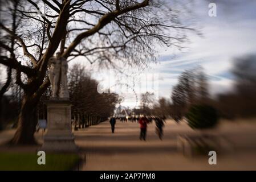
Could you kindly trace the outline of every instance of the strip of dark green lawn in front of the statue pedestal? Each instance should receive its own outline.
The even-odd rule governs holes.
[[[36,153],[0,152],[0,171],[70,170],[79,162],[77,154],[46,154],[46,164],[37,163]]]

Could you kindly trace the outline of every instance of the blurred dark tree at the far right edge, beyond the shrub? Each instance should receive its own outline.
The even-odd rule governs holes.
[[[220,94],[217,107],[223,117],[255,117],[256,113],[256,55],[245,55],[234,60],[234,92]]]

